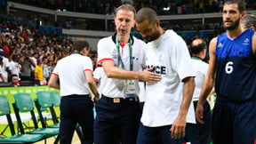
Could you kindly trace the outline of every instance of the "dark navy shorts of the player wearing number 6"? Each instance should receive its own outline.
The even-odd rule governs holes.
[[[255,144],[256,100],[238,103],[217,97],[212,114],[212,141],[216,144]]]

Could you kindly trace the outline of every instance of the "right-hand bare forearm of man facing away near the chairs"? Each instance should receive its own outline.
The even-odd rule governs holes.
[[[89,85],[89,88],[91,89],[93,95],[94,95],[94,98],[96,100],[99,99],[99,92],[97,90],[97,85],[92,77],[92,71],[91,70],[84,70],[84,75],[85,75],[85,78],[86,78],[86,81]]]

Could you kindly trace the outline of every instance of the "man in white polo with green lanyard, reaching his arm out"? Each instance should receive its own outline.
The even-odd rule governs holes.
[[[140,124],[138,79],[157,82],[161,77],[142,67],[146,44],[130,35],[135,24],[135,9],[130,4],[116,9],[116,33],[100,39],[98,63],[107,78],[102,78],[102,93],[96,103],[95,144],[136,143]]]

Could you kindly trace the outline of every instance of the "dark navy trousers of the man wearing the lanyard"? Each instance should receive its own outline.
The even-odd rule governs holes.
[[[140,124],[138,98],[114,100],[102,95],[95,108],[95,144],[136,143]]]

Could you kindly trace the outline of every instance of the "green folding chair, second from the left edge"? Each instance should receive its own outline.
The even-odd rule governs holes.
[[[18,126],[20,128],[20,132],[22,134],[25,133],[30,133],[30,134],[44,134],[44,141],[46,143],[46,139],[53,137],[53,136],[57,136],[57,139],[54,141],[54,143],[58,142],[58,136],[59,136],[59,128],[39,128],[38,124],[36,122],[36,116],[35,116],[35,111],[34,111],[34,103],[32,100],[32,97],[29,93],[25,93],[25,92],[20,92],[20,93],[16,93],[13,95],[14,96],[14,100],[15,102],[12,104],[12,107],[14,109],[15,112],[15,116],[17,118],[17,122],[18,122]],[[20,119],[20,113],[24,113],[24,112],[30,112],[32,120],[33,120],[33,124],[35,129],[32,131],[28,131],[25,132],[24,128],[23,128],[23,124],[21,122]],[[40,114],[39,114],[40,115]],[[41,116],[39,116],[41,117]],[[42,119],[40,119],[42,121]]]

